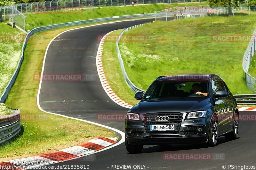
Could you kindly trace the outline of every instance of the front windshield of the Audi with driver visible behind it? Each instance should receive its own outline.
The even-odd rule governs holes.
[[[209,97],[208,80],[156,81],[145,94],[145,99]]]

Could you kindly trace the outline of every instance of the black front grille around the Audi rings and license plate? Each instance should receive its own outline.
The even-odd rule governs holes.
[[[168,121],[156,121],[157,116],[168,116]],[[176,134],[180,130],[180,124],[182,120],[182,114],[180,113],[154,113],[145,114],[143,116],[144,126],[148,134]],[[150,131],[150,125],[161,125],[161,124],[174,124],[175,130],[166,131]]]

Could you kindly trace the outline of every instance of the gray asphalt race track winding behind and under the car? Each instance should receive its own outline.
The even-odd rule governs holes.
[[[101,121],[97,114],[125,114],[128,109],[114,103],[103,90],[96,69],[99,35],[153,19],[128,20],[71,30],[61,34],[49,46],[44,74],[87,74],[91,81],[42,81],[39,103],[48,112],[97,122],[124,131],[124,121]],[[245,112],[240,112],[244,114]],[[255,112],[246,112],[255,114]],[[116,169],[111,165],[145,165],[145,169],[223,169],[226,165],[256,165],[256,122],[240,122],[240,138],[226,141],[220,137],[218,146],[146,145],[140,154],[129,154],[124,143],[96,153],[94,157],[52,164],[90,165],[89,169]],[[119,135],[119,134],[116,134]],[[221,160],[164,160],[164,153],[217,153]],[[223,159],[224,156],[224,159]],[[92,159],[93,158],[93,159]],[[68,167],[68,166],[67,166]],[[142,166],[143,167],[143,166]],[[46,169],[46,166],[44,167]],[[73,167],[74,169],[74,167]],[[125,168],[121,168],[125,169]],[[135,168],[138,169],[138,168]]]

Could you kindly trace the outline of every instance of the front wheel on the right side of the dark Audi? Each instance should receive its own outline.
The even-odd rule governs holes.
[[[210,123],[210,130],[209,130],[209,135],[208,135],[208,142],[206,143],[206,145],[208,147],[213,147],[217,145],[218,142],[218,116],[217,115],[213,115],[212,116],[212,120]]]

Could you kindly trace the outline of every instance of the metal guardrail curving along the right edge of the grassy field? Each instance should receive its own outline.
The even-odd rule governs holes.
[[[252,61],[252,57],[255,55],[256,50],[256,28],[252,34],[252,37],[250,39],[250,42],[247,46],[247,49],[244,53],[243,58],[243,70],[245,72],[245,82],[249,89],[251,89],[253,92],[256,92],[256,78],[251,76],[248,71],[250,69],[250,64]]]

